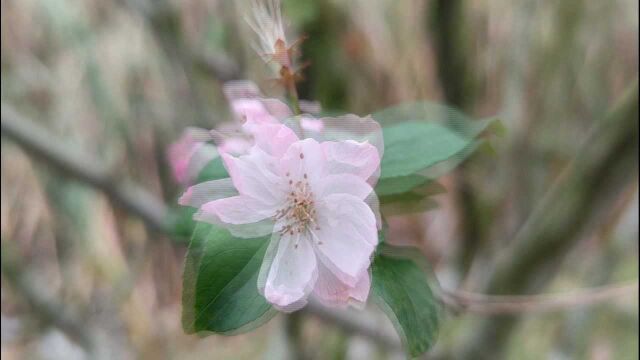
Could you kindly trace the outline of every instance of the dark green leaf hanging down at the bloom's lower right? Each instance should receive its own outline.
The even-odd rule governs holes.
[[[435,343],[441,307],[425,273],[411,260],[378,254],[372,265],[374,301],[393,322],[409,355]]]

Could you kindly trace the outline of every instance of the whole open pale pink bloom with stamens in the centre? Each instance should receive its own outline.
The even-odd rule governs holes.
[[[358,118],[354,126],[369,123]],[[281,124],[253,131],[247,154],[221,155],[232,186],[228,179],[198,184],[180,203],[236,236],[273,234],[258,288],[275,307],[297,310],[311,293],[333,306],[364,303],[378,243],[369,200],[381,152],[368,141],[301,140]]]

